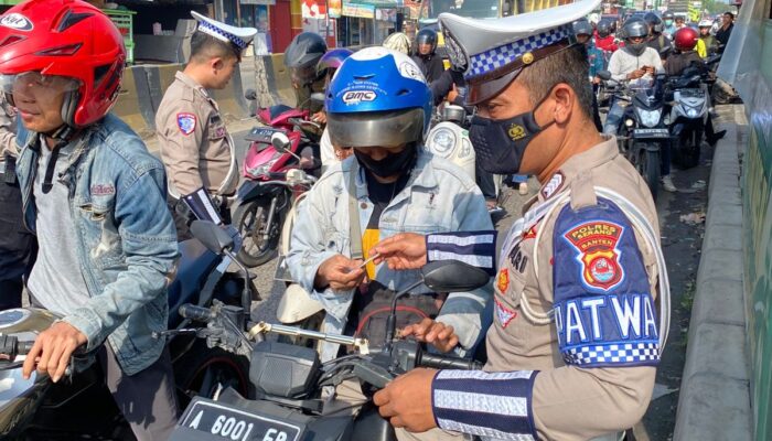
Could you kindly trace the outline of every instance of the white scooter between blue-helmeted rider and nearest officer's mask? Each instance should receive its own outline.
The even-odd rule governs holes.
[[[474,182],[480,183],[476,175],[476,155],[472,141],[469,138],[469,126],[473,115],[468,115],[467,109],[461,106],[444,104],[438,108],[435,118],[436,123],[429,130],[426,138],[426,148],[436,157],[446,159],[461,168]],[[502,192],[503,178],[500,174],[493,175],[493,187],[496,194],[496,207],[489,209],[494,216],[503,209],[504,204]]]

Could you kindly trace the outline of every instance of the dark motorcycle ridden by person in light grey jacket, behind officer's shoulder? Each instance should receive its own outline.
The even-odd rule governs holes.
[[[660,189],[662,151],[668,148],[671,132],[664,115],[664,74],[656,75],[651,87],[633,88],[628,82],[611,83],[611,73],[598,76],[613,87],[613,99],[626,104],[616,132],[620,151],[646,181],[652,197]]]

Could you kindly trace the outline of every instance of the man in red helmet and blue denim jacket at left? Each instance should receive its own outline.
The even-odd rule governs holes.
[[[83,1],[31,0],[0,18],[0,85],[19,112],[17,175],[40,250],[31,303],[62,316],[35,338],[23,376],[58,381],[94,351],[140,440],[176,420],[167,281],[178,258],[163,165],[108,114],[126,62],[122,36]]]

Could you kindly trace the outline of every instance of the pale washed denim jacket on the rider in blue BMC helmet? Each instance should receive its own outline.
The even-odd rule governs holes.
[[[442,233],[491,230],[491,217],[480,189],[464,172],[446,160],[419,150],[418,161],[405,189],[384,208],[378,228],[380,239],[398,233]],[[300,204],[292,228],[292,240],[287,263],[292,278],[311,297],[324,305],[324,332],[344,330],[354,290],[322,292],[313,289],[320,265],[341,254],[350,257],[349,175],[356,158],[334,164],[317,182]],[[361,230],[367,227],[373,204],[367,197],[367,184],[362,168],[356,179],[356,198],[360,207]],[[376,280],[398,291],[414,283],[418,270],[393,271],[386,265],[376,268]],[[421,286],[416,292],[428,292]],[[446,300],[438,321],[453,326],[459,335],[458,355],[472,349],[490,324],[485,308],[491,299],[491,287],[473,292],[453,292]],[[335,356],[337,345],[325,344],[322,359]]]

